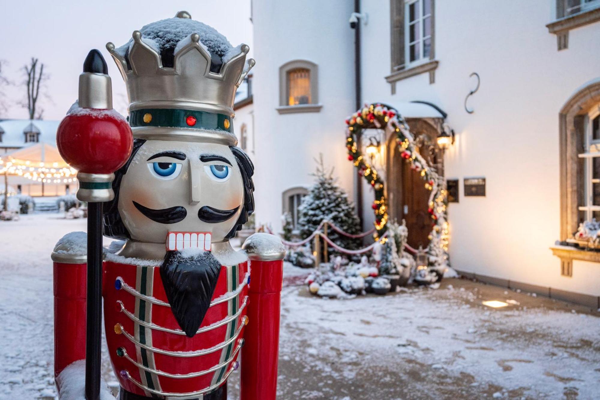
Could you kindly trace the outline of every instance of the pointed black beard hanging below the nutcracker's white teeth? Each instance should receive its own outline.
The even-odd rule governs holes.
[[[171,311],[187,337],[196,335],[217,287],[221,263],[210,251],[184,257],[167,251],[160,266]]]

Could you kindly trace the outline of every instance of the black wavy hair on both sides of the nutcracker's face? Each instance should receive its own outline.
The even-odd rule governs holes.
[[[113,239],[129,239],[131,235],[125,228],[125,224],[119,214],[119,189],[121,189],[121,180],[123,175],[127,173],[127,169],[131,165],[133,157],[137,151],[142,147],[146,141],[143,139],[133,140],[133,150],[131,150],[131,156],[127,160],[124,166],[115,171],[115,180],[112,183],[113,192],[115,192],[115,198],[111,201],[104,202],[103,211],[103,234],[106,237]],[[254,165],[250,158],[247,156],[242,149],[236,146],[229,146],[236,162],[239,166],[239,171],[242,174],[242,181],[244,183],[244,205],[242,212],[239,214],[239,218],[233,226],[232,230],[225,236],[226,239],[230,239],[235,235],[235,232],[242,229],[242,225],[248,222],[248,216],[254,212],[254,183],[252,181],[252,175],[254,175]]]

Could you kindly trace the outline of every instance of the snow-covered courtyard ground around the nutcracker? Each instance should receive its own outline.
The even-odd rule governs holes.
[[[0,399],[55,393],[50,252],[62,235],[86,224],[60,217],[0,222]],[[285,274],[291,285],[305,271],[286,265]],[[514,304],[481,305],[494,299]],[[467,280],[350,300],[287,286],[278,390],[285,400],[594,399],[600,318]]]

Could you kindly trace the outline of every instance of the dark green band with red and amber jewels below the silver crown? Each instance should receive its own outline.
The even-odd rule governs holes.
[[[129,124],[131,126],[193,128],[233,133],[231,117],[225,114],[180,108],[143,108],[131,111]]]

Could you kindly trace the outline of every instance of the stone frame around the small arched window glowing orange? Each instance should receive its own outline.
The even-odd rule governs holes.
[[[310,78],[310,104],[288,105],[288,72],[294,69],[308,69]],[[319,68],[308,60],[292,60],[279,67],[279,107],[280,114],[315,113],[323,106],[319,104]]]

